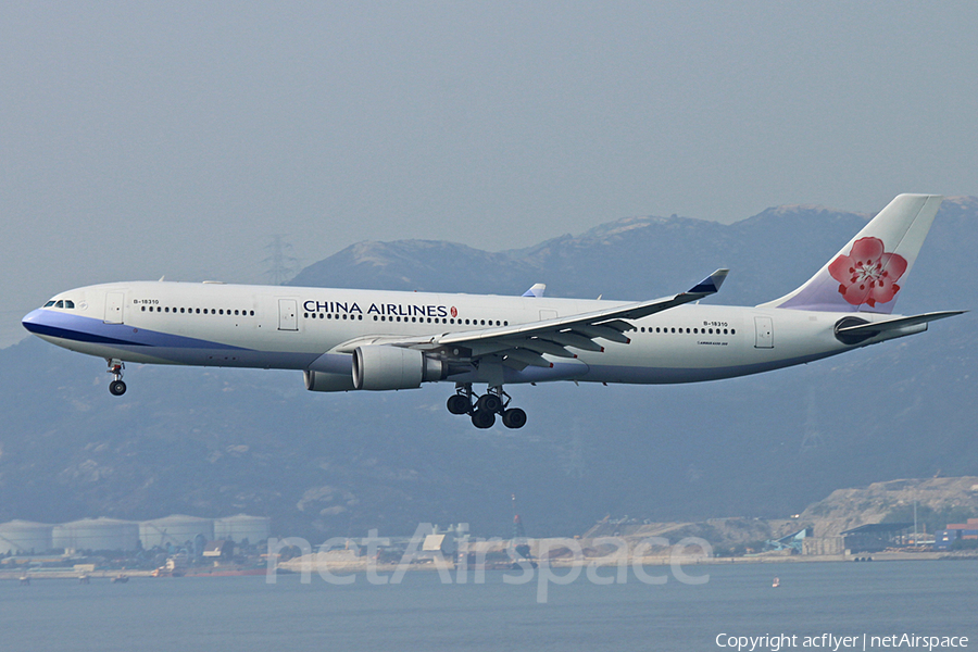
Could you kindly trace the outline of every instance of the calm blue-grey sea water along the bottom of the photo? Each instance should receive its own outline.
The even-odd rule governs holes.
[[[261,576],[3,581],[0,650],[686,651],[736,650],[744,640],[739,637],[750,642],[741,650],[804,649],[805,642],[832,649],[824,635],[858,637],[858,644],[838,644],[842,650],[902,635],[968,637],[967,648],[978,648],[975,560],[687,572],[709,580],[693,585],[669,576],[651,585],[629,575],[623,584],[599,585],[582,573],[551,585],[546,601],[536,582],[510,584],[517,572],[488,572],[479,584],[472,577],[446,584],[434,572],[386,585],[354,576],[343,586],[315,574],[308,584],[299,575],[274,584]],[[614,577],[610,569],[600,573]],[[778,588],[772,587],[775,576]],[[775,638],[782,635],[794,639]],[[913,649],[928,649],[917,642]]]

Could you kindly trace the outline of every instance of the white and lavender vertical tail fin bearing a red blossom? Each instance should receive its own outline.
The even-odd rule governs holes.
[[[896,196],[807,283],[758,308],[892,313],[942,199]]]

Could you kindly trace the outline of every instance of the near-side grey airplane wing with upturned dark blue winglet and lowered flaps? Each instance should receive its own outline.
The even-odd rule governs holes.
[[[352,351],[363,343],[389,344],[438,352],[452,360],[477,360],[494,355],[506,366],[523,369],[528,365],[553,366],[544,354],[577,358],[570,349],[603,351],[599,340],[629,343],[625,334],[632,329],[628,319],[639,319],[684,303],[699,301],[719,290],[727,269],[717,269],[685,292],[618,305],[601,311],[554,319],[497,326],[477,330],[446,333],[419,338],[381,337],[346,342],[339,350]]]

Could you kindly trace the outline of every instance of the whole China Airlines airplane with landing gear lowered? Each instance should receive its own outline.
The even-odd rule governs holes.
[[[526,424],[506,385],[676,384],[808,363],[927,330],[965,311],[893,315],[942,197],[900,195],[804,285],[757,306],[701,304],[717,269],[685,292],[624,302],[350,290],[220,281],[129,281],[61,292],[22,323],[103,358],[122,396],[125,363],[300,369],[311,391],[454,384],[452,414],[477,428]],[[477,396],[473,385],[485,385]]]

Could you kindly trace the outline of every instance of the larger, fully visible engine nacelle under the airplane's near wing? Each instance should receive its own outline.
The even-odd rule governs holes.
[[[443,362],[414,349],[381,344],[358,347],[353,352],[354,389],[416,389],[446,375]]]

